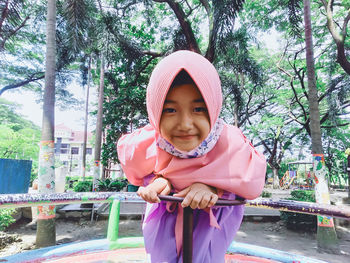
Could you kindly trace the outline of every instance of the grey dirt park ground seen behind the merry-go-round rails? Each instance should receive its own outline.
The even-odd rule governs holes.
[[[284,192],[273,193],[273,198],[281,198]],[[333,193],[338,198],[344,193]],[[283,221],[268,217],[247,217],[235,238],[238,242],[283,250],[289,253],[317,258],[331,263],[348,262],[350,257],[350,222],[337,221],[340,255],[320,253],[317,250],[316,233],[288,230]],[[56,220],[57,244],[74,241],[100,239],[106,236],[107,220],[90,221],[89,216],[81,218],[60,218]],[[0,232],[0,240],[8,238],[8,244],[0,249],[0,258],[35,248],[36,231],[29,219],[21,219],[6,232]],[[120,236],[140,236],[141,219],[125,218],[120,221]],[[13,240],[10,240],[10,237]],[[1,242],[0,242],[1,244]]]

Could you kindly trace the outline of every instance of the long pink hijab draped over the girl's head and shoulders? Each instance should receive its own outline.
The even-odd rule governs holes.
[[[147,87],[150,125],[118,141],[119,160],[128,180],[134,185],[143,185],[144,178],[155,173],[170,180],[176,191],[201,182],[247,199],[258,197],[265,183],[266,161],[238,128],[224,124],[214,148],[198,158],[181,159],[157,146],[165,97],[183,69],[202,93],[211,127],[218,119],[222,94],[214,66],[191,51],[177,51],[165,57],[154,69]]]

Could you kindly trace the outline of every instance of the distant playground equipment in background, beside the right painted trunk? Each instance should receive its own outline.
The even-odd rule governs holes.
[[[304,172],[298,170],[299,165],[304,165]],[[288,170],[280,179],[280,187],[282,189],[289,189],[294,186],[299,189],[311,189],[314,185],[314,174],[313,171],[307,169],[307,165],[312,165],[312,162],[289,162]]]

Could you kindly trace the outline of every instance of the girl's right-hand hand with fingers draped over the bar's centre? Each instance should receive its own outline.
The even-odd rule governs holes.
[[[185,197],[181,206],[190,206],[192,209],[212,207],[219,198],[215,187],[202,183],[194,183],[174,196]]]

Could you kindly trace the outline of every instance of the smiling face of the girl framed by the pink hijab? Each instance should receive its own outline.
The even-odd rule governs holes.
[[[163,138],[181,151],[193,150],[208,136],[208,109],[195,84],[170,89],[159,126]]]

